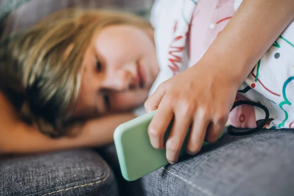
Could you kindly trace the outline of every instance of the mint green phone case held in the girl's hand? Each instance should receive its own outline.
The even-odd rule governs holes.
[[[114,132],[114,143],[117,150],[123,177],[128,181],[136,180],[151,171],[166,166],[166,149],[153,148],[149,136],[148,125],[156,111],[144,114],[119,125]],[[172,128],[170,124],[165,139]],[[190,129],[180,151],[179,158],[186,154],[186,145]],[[221,136],[223,132],[221,133]],[[220,137],[221,137],[220,136]],[[203,145],[208,144],[204,141]]]

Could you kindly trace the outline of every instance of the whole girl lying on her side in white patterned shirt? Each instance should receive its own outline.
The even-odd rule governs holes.
[[[73,122],[137,107],[147,98],[153,82],[145,107],[147,112],[155,109],[158,112],[148,133],[154,147],[167,148],[170,163],[177,161],[180,146],[191,124],[187,146],[190,154],[198,152],[204,139],[213,142],[219,137],[240,86],[240,92],[248,90],[247,84],[251,86],[249,92],[252,94],[248,94],[247,98],[266,105],[271,117],[276,120],[272,120],[270,126],[278,127],[278,123],[283,123],[281,119],[285,114],[282,113],[283,116],[277,107],[266,101],[272,97],[261,90],[265,85],[260,82],[261,74],[257,76],[257,72],[268,69],[269,63],[260,63],[254,68],[252,73],[255,77],[252,76],[254,81],[257,80],[255,85],[252,85],[249,73],[260,57],[264,56],[262,59],[267,62],[268,56],[275,52],[273,49],[267,52],[272,43],[281,46],[279,40],[274,40],[293,21],[294,3],[290,0],[272,0],[270,3],[268,0],[246,0],[242,4],[232,0],[203,0],[198,3],[194,0],[155,2],[151,21],[155,28],[157,55],[153,29],[148,23],[133,16],[110,12],[65,10],[43,20],[25,35],[16,37],[4,51],[5,66],[1,68],[1,79],[2,92],[6,97],[11,101],[12,97],[20,97],[21,102],[15,101],[15,106],[21,118],[11,106],[6,106],[7,99],[2,96],[1,107],[5,110],[1,111],[1,116],[5,117],[1,119],[1,124],[5,122],[10,130],[22,130],[24,137],[26,130],[32,127],[24,125],[20,119],[36,124],[42,132],[53,137],[73,132],[69,129],[65,132],[65,127],[78,130],[80,136],[54,145],[53,140],[38,135],[38,140],[42,138],[42,142],[30,144],[30,148],[24,149],[15,146],[27,145],[25,141],[21,144],[4,142],[13,133],[7,129],[9,131],[1,131],[4,133],[0,142],[4,143],[2,149],[9,149],[6,152],[40,151],[110,142],[112,132],[97,132],[97,128],[93,128],[95,126],[90,129],[87,123]],[[234,8],[238,8],[235,14]],[[291,27],[284,33],[293,32]],[[292,43],[291,39],[293,37],[287,37],[286,42]],[[189,62],[184,61],[186,51],[189,52]],[[285,63],[289,65],[287,69],[292,66],[293,59],[290,57]],[[287,73],[289,75],[291,71]],[[285,82],[274,80],[275,83]],[[244,81],[245,84],[242,84]],[[279,98],[282,99],[285,93],[281,85],[276,85],[276,88],[281,91]],[[237,97],[244,99],[239,95]],[[281,103],[279,110],[284,112],[283,105],[290,105],[288,99],[271,101]],[[239,111],[243,109],[251,112],[252,115],[246,113],[248,119],[256,118],[254,123],[262,119],[257,109],[243,107]],[[289,121],[293,118],[290,119],[288,114],[286,116]],[[119,120],[111,121],[111,129],[134,115],[117,117]],[[174,125],[164,146],[163,135],[172,118]],[[247,123],[245,127],[254,126],[249,120],[240,121],[241,127],[245,126],[244,122]],[[95,132],[97,135],[94,135]],[[16,131],[14,133],[18,135]],[[42,147],[44,141],[48,143],[46,147]]]

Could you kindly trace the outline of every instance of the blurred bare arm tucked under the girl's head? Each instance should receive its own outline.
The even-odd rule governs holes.
[[[113,141],[115,128],[135,116],[116,114],[89,120],[75,137],[52,139],[36,128],[20,123],[14,129],[6,127],[1,132],[0,154],[20,154],[55,151],[76,147],[102,146]]]

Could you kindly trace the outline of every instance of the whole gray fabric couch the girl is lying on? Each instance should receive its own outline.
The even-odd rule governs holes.
[[[148,17],[152,1],[0,0],[0,34],[4,37],[76,4]],[[0,157],[0,196],[294,196],[293,166],[293,130],[225,133],[196,156],[133,182],[123,180],[114,145]]]

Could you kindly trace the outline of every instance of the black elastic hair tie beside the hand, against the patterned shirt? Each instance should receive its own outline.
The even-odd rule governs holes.
[[[270,112],[264,105],[262,105],[260,103],[256,103],[256,102],[252,102],[252,101],[237,101],[237,102],[235,102],[233,104],[233,107],[232,107],[231,111],[234,108],[236,108],[238,106],[241,106],[241,105],[251,105],[251,106],[256,106],[258,108],[261,108],[266,113],[266,117],[265,117],[264,121],[260,125],[258,125],[254,129],[249,129],[249,130],[246,129],[246,131],[233,131],[232,130],[233,126],[229,126],[228,129],[227,129],[227,132],[229,134],[234,135],[234,136],[244,136],[244,135],[252,134],[252,133],[258,131],[259,129],[262,129],[267,124],[267,122],[269,121]]]

